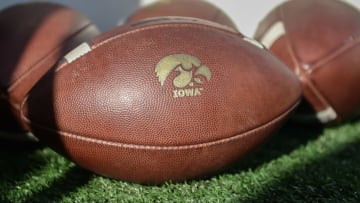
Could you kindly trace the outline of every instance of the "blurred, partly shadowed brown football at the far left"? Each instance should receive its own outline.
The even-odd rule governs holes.
[[[25,138],[19,132],[27,129],[18,118],[28,91],[64,53],[97,34],[87,18],[59,4],[25,3],[2,10],[0,131],[9,138]]]

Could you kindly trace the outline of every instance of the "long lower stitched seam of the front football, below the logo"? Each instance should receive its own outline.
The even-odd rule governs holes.
[[[292,104],[290,106],[290,108],[288,108],[286,111],[284,111],[280,115],[276,116],[272,120],[270,120],[258,127],[255,127],[247,132],[236,134],[235,136],[231,136],[231,137],[228,137],[225,139],[220,139],[220,140],[215,140],[215,141],[210,141],[210,142],[205,142],[205,143],[200,143],[200,144],[190,144],[190,145],[180,145],[180,146],[137,145],[137,144],[119,143],[119,142],[115,142],[115,141],[106,141],[106,140],[101,140],[101,139],[97,139],[97,138],[88,138],[88,137],[76,135],[73,133],[56,131],[54,129],[47,128],[40,124],[31,122],[23,114],[21,116],[26,122],[30,123],[31,126],[37,126],[38,128],[41,128],[42,130],[50,131],[52,133],[59,134],[61,137],[68,137],[68,138],[75,139],[77,141],[84,141],[84,142],[93,143],[93,144],[107,145],[107,146],[120,147],[120,148],[129,148],[129,149],[173,151],[173,150],[199,149],[199,148],[211,147],[211,146],[221,145],[224,143],[229,143],[232,141],[239,140],[243,137],[246,137],[247,135],[254,134],[257,131],[266,129],[266,128],[270,127],[272,124],[279,122],[281,119],[285,118],[291,111],[293,111],[296,108],[296,106],[299,104],[299,102],[300,102],[299,99],[296,100],[296,102],[294,104]],[[35,134],[35,136],[36,136],[36,134]],[[41,139],[40,139],[40,141],[41,141]]]

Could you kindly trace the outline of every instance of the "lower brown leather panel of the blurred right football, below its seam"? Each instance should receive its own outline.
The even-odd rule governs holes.
[[[351,118],[360,115],[360,96],[356,94],[360,87],[360,46],[358,43],[316,67],[311,80],[329,101],[339,118]]]

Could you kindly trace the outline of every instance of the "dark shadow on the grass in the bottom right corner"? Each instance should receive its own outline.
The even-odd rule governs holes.
[[[360,141],[292,169],[249,202],[352,201],[360,199]],[[270,202],[271,202],[270,201]]]

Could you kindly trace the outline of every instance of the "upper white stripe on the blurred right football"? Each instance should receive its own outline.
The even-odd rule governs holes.
[[[268,49],[278,40],[285,35],[285,26],[281,21],[274,23],[261,38],[261,43]]]

